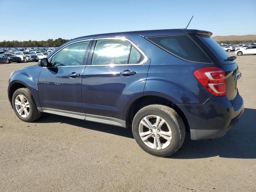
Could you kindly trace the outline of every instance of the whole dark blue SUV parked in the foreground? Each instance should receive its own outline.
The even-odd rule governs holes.
[[[244,111],[229,56],[201,30],[149,30],[72,39],[36,66],[12,72],[8,96],[21,120],[42,112],[130,128],[146,152],[170,156],[192,140],[223,136]]]

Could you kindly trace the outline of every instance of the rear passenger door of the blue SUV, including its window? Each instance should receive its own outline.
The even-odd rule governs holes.
[[[86,118],[125,120],[129,102],[143,95],[150,60],[126,38],[94,40],[82,80]]]

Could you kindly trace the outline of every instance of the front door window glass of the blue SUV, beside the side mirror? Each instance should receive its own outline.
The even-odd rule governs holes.
[[[66,46],[52,57],[52,66],[80,66],[90,41],[78,42]]]

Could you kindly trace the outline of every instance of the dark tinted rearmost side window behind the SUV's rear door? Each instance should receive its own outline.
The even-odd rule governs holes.
[[[148,37],[148,40],[184,60],[212,63],[204,51],[188,35]]]

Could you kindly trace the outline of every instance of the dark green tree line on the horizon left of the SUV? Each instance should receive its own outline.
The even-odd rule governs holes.
[[[48,39],[46,41],[2,41],[0,47],[58,47],[63,43],[67,42],[67,39]]]

